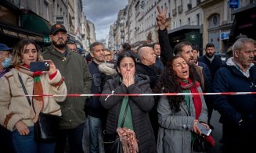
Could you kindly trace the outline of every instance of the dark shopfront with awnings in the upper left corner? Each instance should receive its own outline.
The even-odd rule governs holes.
[[[13,47],[20,39],[29,38],[41,47],[49,45],[51,24],[19,6],[20,1],[0,2],[0,43]]]

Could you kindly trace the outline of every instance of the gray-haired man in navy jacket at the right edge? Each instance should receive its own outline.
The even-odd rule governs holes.
[[[213,91],[255,92],[256,67],[252,63],[253,58],[254,40],[238,39],[233,44],[233,57],[215,74]],[[218,94],[213,99],[223,124],[223,152],[255,152],[255,94]]]

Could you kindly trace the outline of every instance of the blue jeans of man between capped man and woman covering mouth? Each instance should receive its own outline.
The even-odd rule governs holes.
[[[88,116],[88,129],[90,141],[90,153],[99,152],[99,136],[101,136],[102,121],[99,118]],[[100,135],[99,135],[100,134]]]

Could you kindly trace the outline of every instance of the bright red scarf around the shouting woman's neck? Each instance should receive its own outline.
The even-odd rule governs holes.
[[[199,82],[195,81],[193,82],[190,78],[188,79],[188,83],[184,83],[182,81],[179,81],[182,90],[187,90],[189,89],[191,91],[191,93],[199,93],[197,91],[197,87],[200,86]],[[194,95],[193,94],[193,103],[196,109],[196,119],[199,118],[201,110],[202,110],[202,101],[200,98],[200,95]]]

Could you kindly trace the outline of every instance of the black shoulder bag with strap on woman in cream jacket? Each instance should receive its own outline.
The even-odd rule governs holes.
[[[20,84],[22,85],[24,93],[27,95],[27,90],[19,75]],[[31,99],[27,96],[27,101],[31,105]],[[40,112],[38,121],[34,123],[34,140],[38,142],[56,141],[57,132],[59,130],[60,116],[46,114]]]

